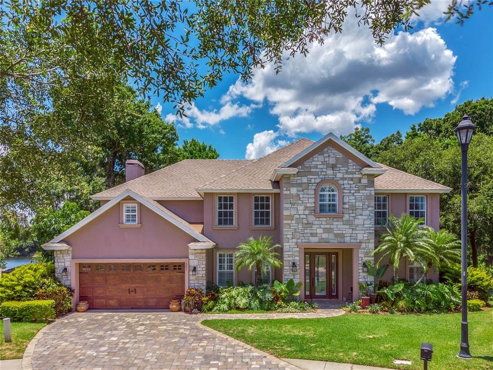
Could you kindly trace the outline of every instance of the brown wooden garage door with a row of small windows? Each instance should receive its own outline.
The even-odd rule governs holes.
[[[79,290],[89,308],[168,308],[185,294],[185,264],[79,264]]]

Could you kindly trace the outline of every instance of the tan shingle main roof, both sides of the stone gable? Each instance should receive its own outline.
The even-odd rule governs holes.
[[[256,160],[185,159],[94,194],[92,198],[111,199],[125,189],[130,189],[151,199],[202,199],[199,192],[215,189],[275,190],[279,189],[279,184],[270,180],[273,171],[306,150],[313,143],[312,140],[300,139]],[[387,172],[375,177],[376,191],[445,193],[451,190],[439,183],[393,169],[384,164],[380,165]]]

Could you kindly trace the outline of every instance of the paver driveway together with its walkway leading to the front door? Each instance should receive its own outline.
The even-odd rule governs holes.
[[[23,370],[299,369],[200,324],[205,319],[329,317],[305,314],[187,315],[173,312],[70,313],[29,344]]]

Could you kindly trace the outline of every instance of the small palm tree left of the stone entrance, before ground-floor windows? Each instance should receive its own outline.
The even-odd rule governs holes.
[[[235,267],[237,270],[244,266],[247,266],[249,270],[256,267],[255,286],[261,283],[261,275],[267,272],[267,266],[271,266],[271,268],[282,266],[282,262],[276,258],[279,253],[274,252],[274,249],[280,247],[280,245],[271,246],[271,239],[272,237],[270,236],[260,236],[258,239],[250,237],[247,243],[241,243],[238,246]]]

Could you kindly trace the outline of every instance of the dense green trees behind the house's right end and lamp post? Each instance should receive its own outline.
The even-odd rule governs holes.
[[[427,118],[404,138],[397,131],[375,144],[368,127],[342,138],[380,163],[452,188],[441,196],[440,226],[460,235],[461,154],[453,129],[464,114],[477,125],[468,152],[468,239],[478,266],[493,263],[493,99],[469,100],[443,118]]]

